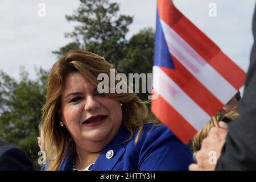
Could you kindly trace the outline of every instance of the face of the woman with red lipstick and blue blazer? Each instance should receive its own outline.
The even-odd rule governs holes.
[[[80,73],[70,73],[65,80],[60,115],[75,143],[92,151],[97,145],[105,147],[122,123],[119,101],[99,94]]]

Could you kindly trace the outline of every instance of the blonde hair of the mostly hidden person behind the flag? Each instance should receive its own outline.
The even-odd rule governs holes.
[[[229,111],[226,114],[216,114],[216,120],[217,122],[224,121],[224,122],[230,122],[239,117],[239,112],[237,107],[234,107],[231,111]],[[192,151],[196,152],[199,151],[201,148],[201,144],[205,138],[207,138],[208,133],[212,127],[216,127],[216,123],[214,123],[213,119],[210,119],[209,122],[207,122],[203,129],[199,130],[196,135],[192,139]]]

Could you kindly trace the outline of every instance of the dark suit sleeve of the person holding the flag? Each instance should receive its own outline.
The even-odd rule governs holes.
[[[256,10],[256,6],[255,6]],[[226,143],[216,170],[256,169],[256,14],[253,17],[254,46],[246,77],[245,92],[240,101],[240,118],[229,124]]]

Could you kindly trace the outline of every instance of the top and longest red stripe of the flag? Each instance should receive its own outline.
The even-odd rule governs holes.
[[[201,57],[237,90],[245,82],[246,73],[226,56],[203,32],[191,23],[170,0],[158,0],[158,13]]]

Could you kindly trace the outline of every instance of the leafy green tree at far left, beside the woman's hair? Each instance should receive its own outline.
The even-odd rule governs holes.
[[[15,80],[0,71],[0,139],[21,148],[36,164],[38,123],[46,102],[48,72],[38,69],[35,80],[22,68]]]

